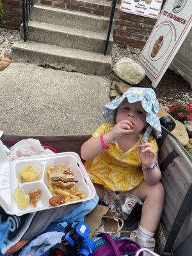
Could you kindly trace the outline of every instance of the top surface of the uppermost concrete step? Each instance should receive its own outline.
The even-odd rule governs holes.
[[[110,2],[109,2],[109,6],[111,6]],[[93,14],[84,13],[84,12],[76,12],[76,11],[73,11],[73,10],[63,10],[63,9],[60,9],[60,8],[55,8],[55,7],[45,6],[45,5],[40,5],[40,4],[35,4],[34,9],[35,8],[38,8],[40,10],[50,10],[52,12],[60,12],[60,13],[63,13],[63,14],[70,13],[70,15],[85,16],[85,17],[89,17],[90,19],[109,21],[109,17],[93,15]]]

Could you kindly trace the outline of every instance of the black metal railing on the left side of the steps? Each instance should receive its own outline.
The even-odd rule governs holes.
[[[27,27],[34,4],[35,0],[22,0],[22,22],[24,42],[28,40]]]

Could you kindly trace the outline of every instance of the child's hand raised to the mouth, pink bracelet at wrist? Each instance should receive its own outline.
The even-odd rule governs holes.
[[[113,140],[116,140],[122,134],[129,134],[132,132],[133,124],[129,120],[122,120],[118,122],[113,129],[110,131]]]

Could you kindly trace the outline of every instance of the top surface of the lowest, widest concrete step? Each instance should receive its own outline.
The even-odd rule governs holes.
[[[76,58],[84,61],[95,61],[100,63],[111,63],[111,55],[106,55],[97,52],[83,51],[79,49],[63,48],[57,45],[42,44],[37,42],[23,42],[20,40],[13,44],[12,49],[26,49],[28,51],[44,52],[45,54],[54,54],[56,56],[66,56],[68,58]]]

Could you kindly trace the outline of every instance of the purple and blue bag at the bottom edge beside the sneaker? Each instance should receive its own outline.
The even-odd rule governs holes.
[[[95,237],[94,244],[93,256],[133,256],[141,248],[127,237],[111,237],[108,234],[99,234],[99,237]]]

